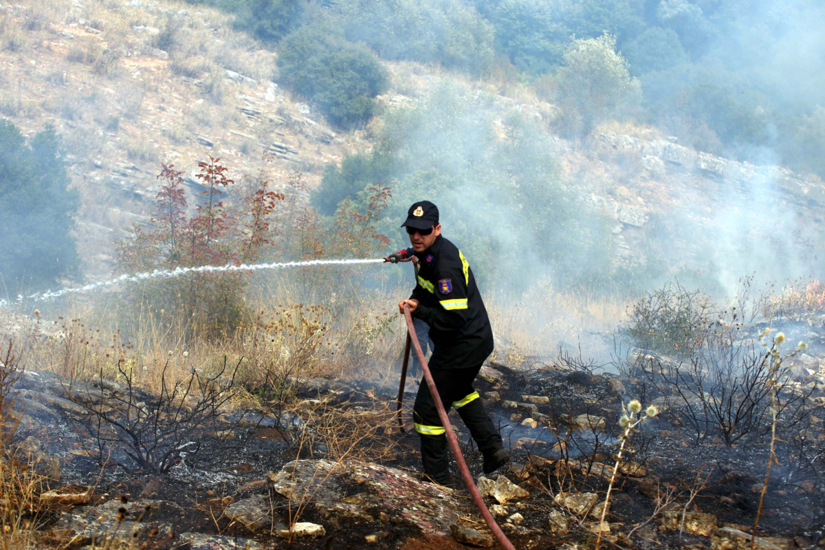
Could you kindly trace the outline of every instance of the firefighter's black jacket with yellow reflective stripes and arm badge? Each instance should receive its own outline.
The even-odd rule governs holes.
[[[430,326],[435,345],[432,369],[461,369],[482,364],[493,353],[493,329],[475,284],[473,270],[461,251],[446,238],[416,252],[417,284],[413,312]]]

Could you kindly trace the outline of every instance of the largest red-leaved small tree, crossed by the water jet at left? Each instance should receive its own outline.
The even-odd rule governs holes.
[[[228,168],[211,155],[208,162],[198,162],[197,178],[203,190],[190,217],[183,172],[172,164],[161,166],[161,190],[153,216],[145,227],[135,226],[115,243],[116,271],[239,266],[256,261],[262,249],[271,244],[270,218],[285,197],[271,190],[264,172],[252,181],[242,199],[228,204],[221,198],[235,183]],[[247,274],[241,271],[191,273],[153,280],[140,289],[139,296],[151,299],[155,310],[178,313],[191,328],[220,334],[238,325],[246,283]]]

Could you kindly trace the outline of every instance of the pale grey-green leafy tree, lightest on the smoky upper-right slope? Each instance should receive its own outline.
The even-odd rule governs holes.
[[[629,114],[641,99],[639,81],[615,52],[615,38],[601,35],[573,41],[557,73],[561,129],[584,135],[602,120]]]

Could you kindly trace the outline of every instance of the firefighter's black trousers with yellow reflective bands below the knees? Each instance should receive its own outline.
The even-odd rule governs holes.
[[[473,389],[473,381],[481,365],[465,369],[431,369],[432,380],[436,383],[438,395],[444,409],[450,407],[458,411],[464,425],[469,429],[475,443],[484,456],[490,456],[502,449],[502,436],[498,434],[493,421],[484,410],[479,393]],[[436,482],[450,481],[450,456],[448,454],[446,430],[438,417],[436,402],[430,388],[422,381],[413,406],[415,429],[421,435],[421,458],[424,473]]]

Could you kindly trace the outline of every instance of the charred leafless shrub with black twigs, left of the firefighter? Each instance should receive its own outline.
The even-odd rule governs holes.
[[[125,360],[117,364],[117,382],[101,375],[94,384],[65,388],[68,398],[86,411],[74,416],[90,435],[87,451],[101,467],[131,472],[168,472],[186,458],[192,467],[206,466],[214,456],[203,452],[206,440],[225,434],[222,408],[233,398],[238,366],[227,365],[214,374],[199,369],[175,379],[169,363],[163,367],[157,395],[135,386],[134,369]]]

